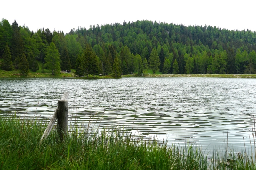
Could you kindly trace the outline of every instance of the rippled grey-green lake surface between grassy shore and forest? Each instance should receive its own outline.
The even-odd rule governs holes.
[[[224,148],[227,132],[236,150],[244,148],[243,137],[247,148],[249,135],[253,141],[256,79],[1,78],[0,87],[0,110],[26,118],[48,120],[68,91],[69,123],[91,119],[95,127],[119,126],[168,144],[189,140],[204,149]]]

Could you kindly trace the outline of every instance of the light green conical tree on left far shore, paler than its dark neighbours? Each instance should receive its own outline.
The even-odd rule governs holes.
[[[60,55],[53,42],[51,42],[47,48],[45,62],[45,66],[52,70],[52,75],[54,75],[55,72],[60,71]]]

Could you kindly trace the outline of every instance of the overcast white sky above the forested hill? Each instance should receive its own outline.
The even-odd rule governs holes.
[[[89,28],[124,20],[256,30],[256,0],[5,0],[0,6],[0,18],[11,24],[16,19],[33,31],[44,27],[67,33],[78,26]]]

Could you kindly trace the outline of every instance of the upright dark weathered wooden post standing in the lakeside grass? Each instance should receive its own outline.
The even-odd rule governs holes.
[[[57,133],[60,140],[63,141],[67,136],[68,129],[68,100],[58,101],[57,120]]]

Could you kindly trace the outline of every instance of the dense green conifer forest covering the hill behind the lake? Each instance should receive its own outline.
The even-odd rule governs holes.
[[[31,31],[0,22],[1,69],[75,69],[89,74],[255,74],[256,32],[216,26],[184,26],[152,21],[78,27],[69,33],[47,29]],[[28,69],[29,68],[29,69]]]

